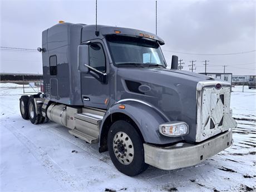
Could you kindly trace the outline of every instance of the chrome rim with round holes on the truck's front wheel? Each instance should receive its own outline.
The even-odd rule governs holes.
[[[116,159],[123,165],[129,165],[134,159],[134,145],[125,132],[117,132],[113,138]]]

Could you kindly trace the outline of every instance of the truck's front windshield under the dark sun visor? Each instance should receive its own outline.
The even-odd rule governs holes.
[[[126,36],[109,36],[107,41],[116,65],[166,66],[156,41]]]

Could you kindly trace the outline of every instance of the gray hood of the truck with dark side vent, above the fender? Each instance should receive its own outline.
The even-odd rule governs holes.
[[[184,121],[190,127],[184,139],[195,141],[196,86],[211,78],[198,73],[166,68],[119,67],[116,100],[137,99],[162,111],[169,121]],[[214,80],[213,80],[214,81]],[[138,91],[147,87],[146,92]]]

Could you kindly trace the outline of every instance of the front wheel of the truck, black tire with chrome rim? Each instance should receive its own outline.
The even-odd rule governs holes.
[[[112,124],[107,136],[107,147],[116,169],[125,175],[139,175],[149,166],[144,160],[141,137],[127,121],[119,120]]]

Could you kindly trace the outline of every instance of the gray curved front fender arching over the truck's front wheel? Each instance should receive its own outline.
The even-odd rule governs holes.
[[[120,105],[124,105],[125,109],[119,109]],[[117,101],[112,105],[110,109],[107,110],[104,119],[102,119],[99,138],[100,148],[104,142],[102,138],[106,136],[104,134],[105,121],[115,113],[121,113],[129,116],[139,128],[144,141],[147,143],[161,145],[183,140],[182,137],[167,137],[160,134],[159,125],[164,122],[169,122],[170,120],[155,106],[141,100],[124,99]]]

